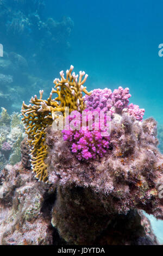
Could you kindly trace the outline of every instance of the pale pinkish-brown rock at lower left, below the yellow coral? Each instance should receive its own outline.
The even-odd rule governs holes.
[[[34,180],[21,162],[14,167],[7,165],[0,174],[0,182],[0,244],[52,244],[49,216],[41,212],[47,186]]]

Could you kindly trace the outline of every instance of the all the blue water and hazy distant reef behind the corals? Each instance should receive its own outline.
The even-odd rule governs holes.
[[[0,107],[20,113],[40,89],[46,98],[72,64],[89,74],[89,91],[128,87],[144,119],[158,121],[163,153],[162,8],[161,0],[0,0]],[[148,217],[163,243],[163,222]]]

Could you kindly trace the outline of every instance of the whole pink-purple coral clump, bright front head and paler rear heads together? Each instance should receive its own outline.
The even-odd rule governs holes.
[[[129,88],[118,87],[114,92],[111,92],[108,88],[93,90],[90,96],[85,96],[87,108],[83,113],[86,114],[86,125],[82,123],[81,117],[83,117],[83,113],[80,114],[78,112],[73,115],[73,112],[71,112],[67,118],[73,122],[75,129],[72,129],[70,125],[62,133],[64,140],[71,143],[72,153],[77,156],[78,160],[96,159],[97,157],[103,157],[107,153],[110,136],[104,136],[103,133],[108,129],[107,125],[109,124],[108,119],[106,119],[106,112],[110,113],[110,118],[112,119],[115,113],[122,114],[123,109],[125,109],[125,112],[134,116],[136,120],[142,121],[145,109],[140,109],[139,106],[133,103],[129,104],[130,96]],[[90,124],[92,114],[94,114],[94,119]],[[102,119],[97,121],[95,118],[97,114]],[[77,116],[79,117],[78,119]],[[90,129],[90,126],[92,129]]]

